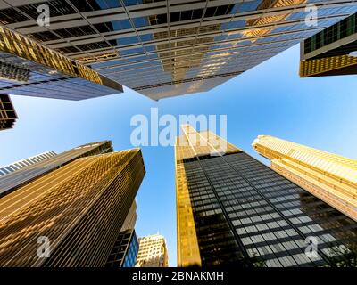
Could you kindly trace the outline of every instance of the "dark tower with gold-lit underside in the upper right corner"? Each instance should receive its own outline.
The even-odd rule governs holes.
[[[301,77],[357,73],[357,14],[307,38],[301,44]]]

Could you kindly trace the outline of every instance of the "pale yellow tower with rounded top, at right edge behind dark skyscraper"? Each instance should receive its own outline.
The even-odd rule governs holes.
[[[357,221],[357,160],[259,135],[253,148],[271,168]]]

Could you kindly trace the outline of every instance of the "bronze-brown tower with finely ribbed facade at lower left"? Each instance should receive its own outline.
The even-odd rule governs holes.
[[[104,153],[2,197],[0,265],[104,266],[144,175],[139,149]]]

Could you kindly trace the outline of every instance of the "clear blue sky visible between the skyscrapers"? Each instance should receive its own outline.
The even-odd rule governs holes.
[[[212,89],[159,102],[125,89],[82,102],[12,96],[19,120],[0,132],[0,165],[43,151],[112,140],[132,147],[130,118],[158,108],[159,115],[227,115],[228,141],[261,159],[251,143],[270,134],[357,159],[357,80],[353,76],[299,78],[299,46]],[[137,235],[162,233],[175,266],[176,210],[172,147],[144,147],[146,175],[137,194]]]

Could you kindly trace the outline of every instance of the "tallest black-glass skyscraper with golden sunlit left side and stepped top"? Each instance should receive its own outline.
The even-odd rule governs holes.
[[[352,219],[229,142],[222,154],[218,146],[226,141],[216,134],[182,128],[175,146],[179,266],[356,260]],[[315,256],[305,254],[311,239]]]

